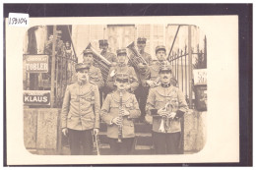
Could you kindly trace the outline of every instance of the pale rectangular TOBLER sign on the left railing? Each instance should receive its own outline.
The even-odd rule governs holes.
[[[48,55],[25,55],[27,73],[48,73]]]

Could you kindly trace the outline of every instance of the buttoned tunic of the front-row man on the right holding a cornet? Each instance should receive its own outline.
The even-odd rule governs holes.
[[[172,112],[176,112],[176,117],[169,122],[166,133],[177,133],[181,131],[180,117],[187,110],[187,103],[182,91],[173,85],[163,87],[161,85],[151,88],[147,100],[146,111],[151,115],[152,109],[160,110],[166,103],[172,104]],[[153,131],[160,133],[160,115],[153,116]]]

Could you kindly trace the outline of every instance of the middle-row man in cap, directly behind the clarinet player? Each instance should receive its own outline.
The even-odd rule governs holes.
[[[116,66],[111,67],[109,70],[109,74],[107,76],[107,80],[106,80],[106,85],[107,87],[109,87],[111,90],[115,89],[115,75],[119,74],[119,73],[123,73],[123,74],[127,74],[129,75],[129,81],[130,84],[127,85],[127,90],[129,92],[133,92],[137,87],[138,87],[138,79],[136,76],[136,73],[134,71],[133,67],[128,67],[126,64],[126,60],[127,60],[127,53],[126,53],[126,49],[118,49],[116,51],[117,53],[117,59],[118,59],[118,63]]]

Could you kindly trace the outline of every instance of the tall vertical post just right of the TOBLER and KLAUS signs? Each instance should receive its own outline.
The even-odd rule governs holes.
[[[50,107],[53,108],[55,96],[55,46],[56,46],[56,26],[53,26],[53,42],[52,42],[52,60],[51,60],[51,83],[50,83]]]

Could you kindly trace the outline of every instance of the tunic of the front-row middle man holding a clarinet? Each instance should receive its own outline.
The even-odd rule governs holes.
[[[138,102],[134,94],[125,92],[122,96],[122,106],[128,112],[129,116],[123,117],[123,127],[122,127],[122,137],[123,138],[134,138],[134,123],[133,118],[138,118],[141,114]],[[103,105],[101,107],[101,119],[107,124],[107,137],[111,139],[118,138],[118,126],[112,124],[113,118],[118,117],[120,107],[120,93],[119,91],[114,91],[107,94]]]

